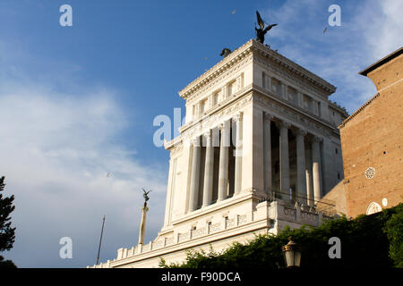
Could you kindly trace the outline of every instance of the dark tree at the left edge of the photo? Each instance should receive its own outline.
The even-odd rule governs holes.
[[[4,176],[0,178],[0,252],[10,250],[13,248],[15,240],[15,227],[12,227],[11,216],[15,206],[13,206],[14,196],[4,197],[1,193],[4,191],[5,183]],[[12,261],[5,260],[0,256],[1,267],[13,267],[15,266]]]

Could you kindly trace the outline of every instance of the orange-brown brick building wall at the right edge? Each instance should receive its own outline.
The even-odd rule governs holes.
[[[403,200],[403,49],[360,73],[378,93],[340,126],[347,215]]]

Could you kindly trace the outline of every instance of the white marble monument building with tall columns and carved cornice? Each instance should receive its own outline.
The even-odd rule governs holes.
[[[156,240],[98,267],[155,267],[184,249],[220,251],[286,225],[331,219],[322,196],[343,179],[335,87],[255,40],[179,92],[186,100],[170,151],[165,220]],[[150,206],[152,207],[152,206]]]

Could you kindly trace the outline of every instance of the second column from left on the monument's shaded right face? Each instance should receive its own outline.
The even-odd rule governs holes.
[[[281,198],[288,198],[289,181],[289,152],[288,152],[288,122],[279,122],[279,164]]]

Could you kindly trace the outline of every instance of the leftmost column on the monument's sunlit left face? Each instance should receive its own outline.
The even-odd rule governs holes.
[[[193,139],[193,159],[192,159],[192,176],[190,184],[189,196],[189,212],[197,208],[197,198],[199,197],[200,186],[200,160],[201,160],[201,146],[200,138]]]

